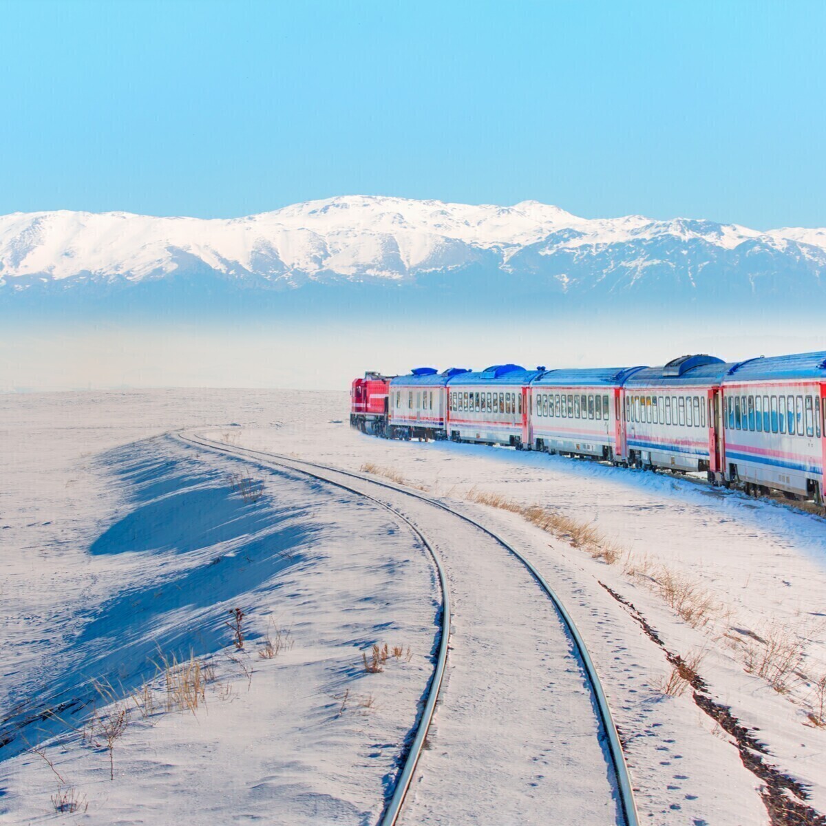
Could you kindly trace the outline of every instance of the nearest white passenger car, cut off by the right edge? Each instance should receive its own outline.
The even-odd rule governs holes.
[[[826,352],[738,363],[723,395],[729,482],[824,504]]]

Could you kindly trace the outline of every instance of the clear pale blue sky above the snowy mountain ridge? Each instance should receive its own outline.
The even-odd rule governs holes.
[[[826,2],[0,0],[0,213],[826,225]]]

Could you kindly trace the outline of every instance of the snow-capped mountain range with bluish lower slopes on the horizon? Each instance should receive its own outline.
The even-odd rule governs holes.
[[[0,292],[7,293],[180,275],[254,289],[408,283],[480,268],[523,292],[805,294],[826,289],[826,229],[761,232],[682,218],[586,219],[535,201],[496,207],[368,196],[234,219],[0,216]]]

